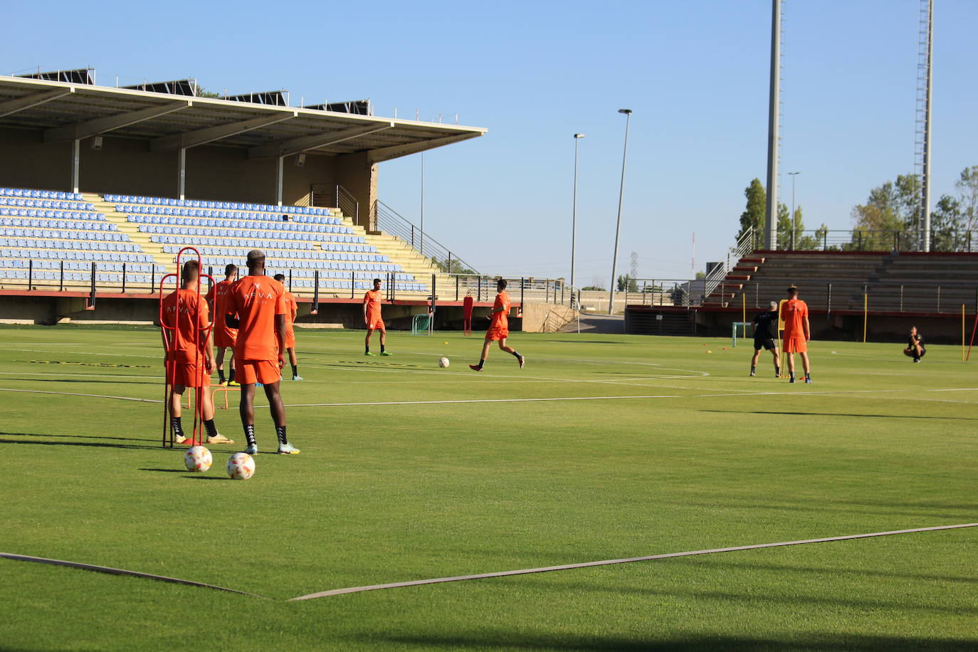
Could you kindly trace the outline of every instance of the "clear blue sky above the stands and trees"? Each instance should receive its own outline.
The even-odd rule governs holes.
[[[978,164],[978,3],[935,1],[934,192]],[[917,0],[786,0],[782,171],[806,225],[845,229],[913,163]],[[480,271],[566,276],[582,132],[579,284],[610,276],[624,116],[634,109],[619,271],[688,278],[723,255],[764,178],[770,3],[378,1],[13,3],[4,72],[92,65],[99,81],[194,76],[293,104],[371,98],[459,113],[480,139],[425,157],[425,226]],[[10,28],[14,25],[16,29]],[[417,219],[419,156],[380,165],[380,198]],[[791,199],[790,178],[781,197]]]

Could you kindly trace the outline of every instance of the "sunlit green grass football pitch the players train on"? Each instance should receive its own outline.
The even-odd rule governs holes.
[[[26,390],[0,391],[0,551],[267,596],[0,559],[3,650],[978,649],[978,528],[287,602],[978,521],[978,363],[956,347],[814,342],[815,384],[789,385],[721,339],[517,333],[526,369],[494,350],[476,374],[477,338],[391,333],[365,358],[362,333],[300,329],[302,455],[264,453],[262,397],[239,482],[230,450],[195,475],[159,447],[155,330],[0,335],[0,388]],[[236,405],[216,419],[241,442]]]

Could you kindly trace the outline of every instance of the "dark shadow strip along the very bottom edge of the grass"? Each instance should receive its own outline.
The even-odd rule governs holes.
[[[859,634],[799,633],[792,638],[762,638],[707,634],[703,636],[653,638],[649,634],[625,636],[580,636],[512,630],[477,630],[458,633],[426,632],[416,635],[371,636],[381,643],[419,646],[420,648],[458,648],[491,650],[964,650],[975,649],[978,638],[926,638],[923,636],[871,636]]]

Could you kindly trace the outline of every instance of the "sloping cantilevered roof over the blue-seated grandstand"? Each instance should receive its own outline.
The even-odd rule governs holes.
[[[40,129],[46,143],[104,133],[166,151],[209,143],[248,157],[369,152],[372,162],[482,136],[486,129],[321,109],[0,75],[0,127]]]

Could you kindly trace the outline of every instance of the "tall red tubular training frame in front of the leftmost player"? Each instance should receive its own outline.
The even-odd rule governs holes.
[[[166,351],[166,359],[163,363],[165,368],[165,376],[163,378],[163,434],[162,434],[162,446],[173,448],[176,440],[176,435],[173,430],[173,425],[170,419],[170,390],[171,384],[169,380],[171,378],[176,378],[177,369],[177,356],[176,352],[182,348],[186,348],[188,342],[185,341],[183,333],[180,331],[182,320],[193,320],[191,328],[187,329],[188,332],[192,333],[193,341],[189,342],[195,351],[195,367],[197,373],[198,382],[197,387],[194,388],[194,428],[192,434],[190,435],[190,445],[196,446],[203,442],[203,401],[201,401],[201,392],[206,391],[203,386],[203,374],[206,373],[204,369],[204,361],[200,357],[200,342],[206,341],[207,336],[210,334],[210,330],[214,326],[214,319],[211,316],[209,322],[206,326],[198,327],[196,325],[200,324],[200,305],[201,302],[197,302],[194,309],[194,314],[190,314],[190,310],[181,310],[180,294],[179,290],[182,286],[181,270],[184,264],[184,252],[193,252],[197,256],[199,275],[197,279],[197,293],[200,295],[200,280],[206,279],[207,282],[213,285],[214,280],[206,274],[203,274],[202,266],[200,265],[200,251],[192,246],[186,246],[177,253],[176,264],[177,271],[175,274],[164,275],[162,279],[159,280],[159,308],[158,308],[158,320],[159,320],[159,334],[163,340],[163,349]],[[173,315],[172,326],[166,325],[166,320],[164,319],[164,306],[167,294],[164,293],[165,285],[168,279],[173,278],[175,280],[176,287],[174,288],[174,293],[176,293],[176,306]],[[203,305],[206,305],[205,303]],[[202,338],[202,339],[201,339]]]

